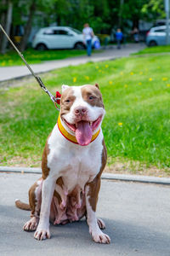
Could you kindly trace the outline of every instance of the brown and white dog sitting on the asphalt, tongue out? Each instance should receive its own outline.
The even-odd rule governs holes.
[[[30,206],[15,202],[31,209],[24,230],[36,230],[37,240],[50,237],[49,220],[66,224],[86,216],[94,241],[110,243],[95,214],[107,157],[100,127],[104,116],[98,84],[62,85],[59,119],[42,154],[42,177],[29,190]]]

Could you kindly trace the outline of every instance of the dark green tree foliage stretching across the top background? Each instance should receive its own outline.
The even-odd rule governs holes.
[[[10,3],[10,4],[9,4]],[[13,15],[11,3],[13,3]],[[126,28],[132,20],[133,27],[139,26],[139,20],[155,20],[165,16],[162,0],[1,0],[0,21],[6,30],[12,32],[15,26],[24,26],[24,35],[20,49],[26,44],[32,26],[37,23],[49,26],[56,22],[58,26],[72,26],[82,31],[84,23],[89,23],[95,33],[110,33],[113,27]],[[0,33],[0,49],[6,49]]]

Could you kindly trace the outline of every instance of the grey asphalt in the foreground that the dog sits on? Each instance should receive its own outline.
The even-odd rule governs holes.
[[[51,225],[51,239],[37,241],[22,230],[30,212],[14,207],[28,201],[39,174],[0,173],[0,255],[170,255],[170,186],[102,180],[97,216],[111,244],[92,241],[85,219]]]

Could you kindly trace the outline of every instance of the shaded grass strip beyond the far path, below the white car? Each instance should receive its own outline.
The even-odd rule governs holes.
[[[61,60],[77,55],[86,55],[85,49],[53,49],[53,50],[36,50],[26,49],[23,52],[26,61],[29,64],[40,63],[42,61]],[[5,55],[0,55],[0,67],[25,65],[15,50],[8,51]]]

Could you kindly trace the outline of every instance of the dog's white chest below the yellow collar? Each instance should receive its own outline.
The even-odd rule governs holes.
[[[54,129],[55,130],[55,129]],[[49,175],[62,177],[67,191],[71,192],[77,185],[84,189],[86,183],[98,174],[102,158],[102,132],[99,137],[86,147],[80,147],[58,137],[55,130],[49,138],[50,154],[48,154]],[[59,139],[64,140],[59,147]],[[57,143],[57,147],[54,147]]]

